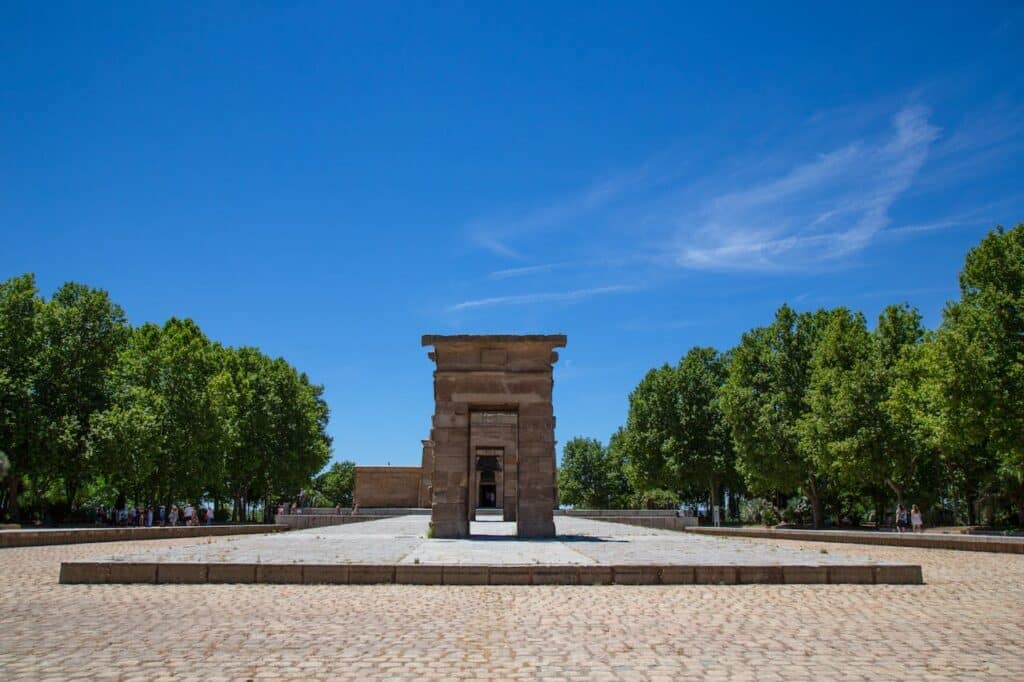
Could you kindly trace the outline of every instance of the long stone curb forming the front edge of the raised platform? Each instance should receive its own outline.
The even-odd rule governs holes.
[[[263,585],[922,585],[921,566],[453,565],[66,561],[60,583]]]

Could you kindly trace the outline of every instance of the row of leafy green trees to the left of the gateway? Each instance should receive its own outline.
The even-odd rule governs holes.
[[[0,284],[0,516],[20,503],[294,497],[330,458],[324,389],[282,358],[208,339],[191,319],[128,325],[106,292]]]

